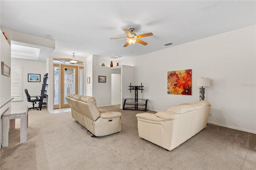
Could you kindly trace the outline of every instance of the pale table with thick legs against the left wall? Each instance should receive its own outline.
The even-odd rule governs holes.
[[[2,116],[2,147],[8,146],[9,142],[9,120],[20,119],[20,143],[27,140],[28,106],[10,107]]]

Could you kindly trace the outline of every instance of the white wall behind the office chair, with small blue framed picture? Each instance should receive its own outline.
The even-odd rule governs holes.
[[[24,59],[12,59],[11,61],[12,61],[12,65],[22,66],[22,98],[23,98],[23,101],[12,101],[11,105],[12,106],[28,105],[28,107],[32,107],[32,103],[27,101],[26,93],[24,89],[28,89],[28,93],[30,96],[41,94],[42,83],[44,81],[43,78],[44,78],[44,75],[48,73],[48,71],[46,71],[46,68],[47,68],[46,62],[30,61],[30,60],[24,60]],[[28,74],[40,74],[41,81],[28,82]],[[48,89],[48,87],[46,89]],[[35,106],[38,107],[38,104],[36,104]]]

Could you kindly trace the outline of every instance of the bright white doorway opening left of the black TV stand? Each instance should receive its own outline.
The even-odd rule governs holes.
[[[121,103],[121,74],[111,74],[111,105]]]

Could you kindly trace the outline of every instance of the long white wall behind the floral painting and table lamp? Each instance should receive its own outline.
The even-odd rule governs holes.
[[[199,100],[196,77],[210,77],[205,88],[216,125],[256,133],[255,25],[122,61],[135,66],[148,109],[164,111]],[[175,42],[174,42],[175,43]],[[167,71],[192,69],[192,95],[167,94]]]

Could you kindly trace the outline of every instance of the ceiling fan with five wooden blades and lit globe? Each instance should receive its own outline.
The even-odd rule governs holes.
[[[124,30],[124,32],[127,34],[126,38],[110,38],[110,40],[122,40],[122,39],[127,39],[127,42],[124,44],[124,47],[127,47],[129,44],[134,44],[136,42],[142,44],[142,45],[147,45],[148,43],[139,40],[138,38],[142,37],[148,37],[148,36],[153,36],[153,34],[147,33],[147,34],[141,34],[141,35],[136,35],[134,32],[134,28],[129,28],[129,30]]]

